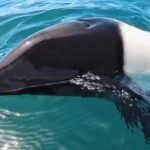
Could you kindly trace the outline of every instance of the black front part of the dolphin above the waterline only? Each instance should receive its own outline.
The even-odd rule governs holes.
[[[114,75],[123,73],[122,67],[116,22],[87,19],[64,23],[27,38],[1,62],[0,92],[60,84],[88,71]]]

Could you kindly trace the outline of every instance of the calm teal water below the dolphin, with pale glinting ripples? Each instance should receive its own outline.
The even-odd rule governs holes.
[[[148,148],[106,99],[22,95],[0,106],[1,149]]]

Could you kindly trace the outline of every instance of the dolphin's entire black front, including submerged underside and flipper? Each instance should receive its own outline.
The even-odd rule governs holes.
[[[120,24],[82,19],[28,37],[0,62],[0,94],[111,98],[128,127],[141,127],[149,141],[149,97],[129,86]]]

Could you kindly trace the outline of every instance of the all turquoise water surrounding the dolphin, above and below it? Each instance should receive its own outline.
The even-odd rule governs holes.
[[[0,58],[28,35],[71,19],[105,16],[150,30],[149,0],[1,0]],[[149,77],[134,76],[143,89]],[[143,133],[128,129],[106,99],[0,97],[0,149],[147,150]]]

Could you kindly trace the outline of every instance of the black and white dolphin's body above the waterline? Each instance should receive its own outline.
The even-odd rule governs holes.
[[[46,28],[0,62],[0,93],[40,87],[50,91],[52,85],[68,85],[70,79],[86,72],[116,76],[149,71],[149,39],[148,32],[108,18]]]

